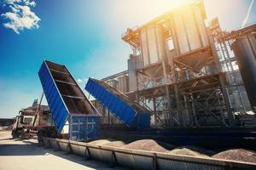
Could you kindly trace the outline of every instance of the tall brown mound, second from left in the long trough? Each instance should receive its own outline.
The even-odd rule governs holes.
[[[167,150],[165,147],[173,147],[172,144],[164,144],[160,142],[156,142],[153,139],[143,139],[137,140],[130,144],[126,144],[121,148],[132,149],[132,150],[147,150],[147,151],[156,151],[156,152],[165,152],[167,153],[170,150]]]

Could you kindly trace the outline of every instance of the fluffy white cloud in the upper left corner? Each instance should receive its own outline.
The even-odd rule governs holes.
[[[36,3],[30,0],[6,0],[6,4],[9,5],[11,9],[10,12],[1,14],[1,16],[9,22],[4,23],[3,26],[12,29],[17,34],[20,34],[20,31],[32,28],[38,28],[38,21],[40,18],[31,11],[31,7],[35,7]],[[20,3],[23,3],[21,5]]]

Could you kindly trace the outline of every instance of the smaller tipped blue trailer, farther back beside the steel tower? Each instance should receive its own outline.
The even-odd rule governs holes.
[[[89,78],[85,90],[110,110],[127,127],[150,127],[150,112],[107,83]]]

